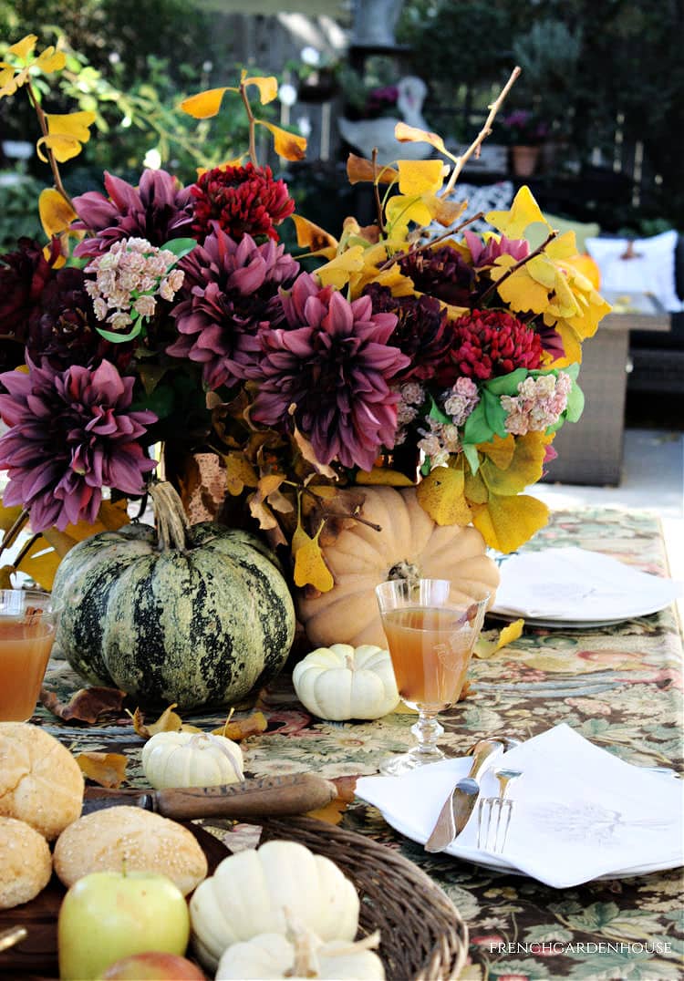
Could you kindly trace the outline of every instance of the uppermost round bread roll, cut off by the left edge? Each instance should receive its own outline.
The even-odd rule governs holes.
[[[80,816],[83,775],[69,749],[27,722],[0,722],[0,816],[50,842]]]

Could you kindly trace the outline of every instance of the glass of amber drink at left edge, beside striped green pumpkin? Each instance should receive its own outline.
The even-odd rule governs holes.
[[[35,711],[57,613],[47,593],[0,590],[0,722],[26,722]]]

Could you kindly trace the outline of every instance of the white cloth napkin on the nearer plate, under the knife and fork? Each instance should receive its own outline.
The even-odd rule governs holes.
[[[470,763],[463,757],[401,777],[362,777],[356,794],[424,845]],[[565,723],[510,749],[498,767],[522,771],[508,790],[514,803],[503,852],[478,851],[475,807],[447,854],[485,864],[502,860],[556,889],[684,863],[682,781],[625,763]],[[484,796],[498,794],[492,772],[481,786]]]

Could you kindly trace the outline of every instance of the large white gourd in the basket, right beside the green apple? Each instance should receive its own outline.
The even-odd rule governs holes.
[[[353,883],[330,858],[297,842],[267,842],[224,858],[189,905],[192,945],[209,970],[239,941],[285,936],[290,917],[324,941],[351,941],[358,929]]]

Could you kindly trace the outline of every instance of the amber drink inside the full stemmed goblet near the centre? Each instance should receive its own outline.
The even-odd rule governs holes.
[[[399,695],[410,705],[444,706],[463,688],[477,632],[445,606],[383,613]]]

